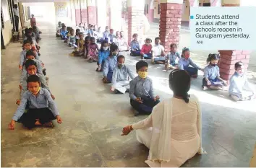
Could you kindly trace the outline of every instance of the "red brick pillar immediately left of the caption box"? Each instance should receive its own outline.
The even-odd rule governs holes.
[[[182,4],[183,1],[161,0],[161,14],[159,25],[159,37],[161,44],[167,52],[170,50],[170,44],[179,45],[179,31],[182,24]]]

